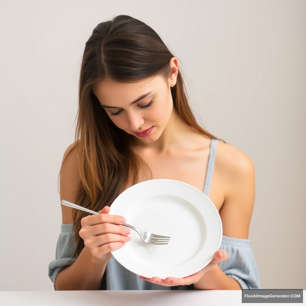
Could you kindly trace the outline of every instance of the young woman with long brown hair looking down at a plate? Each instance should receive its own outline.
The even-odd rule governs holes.
[[[126,188],[156,178],[200,189],[222,220],[220,250],[186,278],[147,279],[110,253],[130,240],[124,216],[109,214],[111,203]],[[49,266],[56,290],[259,288],[248,240],[252,161],[196,123],[177,58],[132,17],[99,24],[86,43],[76,141],[64,155],[60,195],[100,214],[62,206],[56,260]]]

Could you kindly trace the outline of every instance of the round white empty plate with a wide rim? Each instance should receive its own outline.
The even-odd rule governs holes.
[[[133,185],[110,207],[142,231],[170,236],[166,245],[144,243],[131,230],[131,240],[112,252],[137,275],[186,277],[205,267],[218,250],[222,223],[215,205],[199,189],[181,181],[156,179]]]

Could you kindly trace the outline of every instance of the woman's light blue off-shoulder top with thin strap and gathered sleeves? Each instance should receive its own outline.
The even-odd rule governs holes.
[[[211,177],[213,173],[217,140],[211,141],[211,149],[207,166],[207,174],[204,185],[204,194],[208,196]],[[56,246],[55,260],[49,264],[49,277],[54,283],[58,273],[65,267],[72,265],[76,258],[73,257],[75,250],[73,243],[73,224],[62,224],[61,233]],[[250,248],[249,239],[238,239],[222,236],[220,249],[228,254],[228,259],[219,263],[222,271],[231,278],[234,278],[242,289],[259,289],[259,274],[255,258]],[[112,257],[106,265],[106,272],[103,277],[101,289],[107,290],[188,290],[190,286],[166,287],[151,282],[142,281],[139,275],[125,269]]]

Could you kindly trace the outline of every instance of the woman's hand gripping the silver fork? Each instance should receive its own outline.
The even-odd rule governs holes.
[[[106,206],[99,211],[99,215],[82,218],[79,232],[91,254],[105,261],[112,257],[110,251],[123,247],[125,242],[131,240],[128,236],[131,230],[121,226],[126,222],[125,218],[109,215],[109,212],[110,207]]]

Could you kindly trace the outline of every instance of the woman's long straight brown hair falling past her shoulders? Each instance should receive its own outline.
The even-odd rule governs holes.
[[[136,82],[158,75],[167,78],[173,57],[159,35],[135,18],[120,15],[93,30],[85,45],[80,71],[74,147],[81,177],[75,198],[79,205],[94,211],[110,206],[129,181],[137,182],[141,162],[131,149],[133,136],[114,125],[93,94],[93,86],[106,77],[118,82]],[[215,138],[196,123],[180,72],[171,94],[179,116],[197,131]],[[84,248],[78,233],[80,219],[85,215],[76,211],[73,216],[75,255]]]

